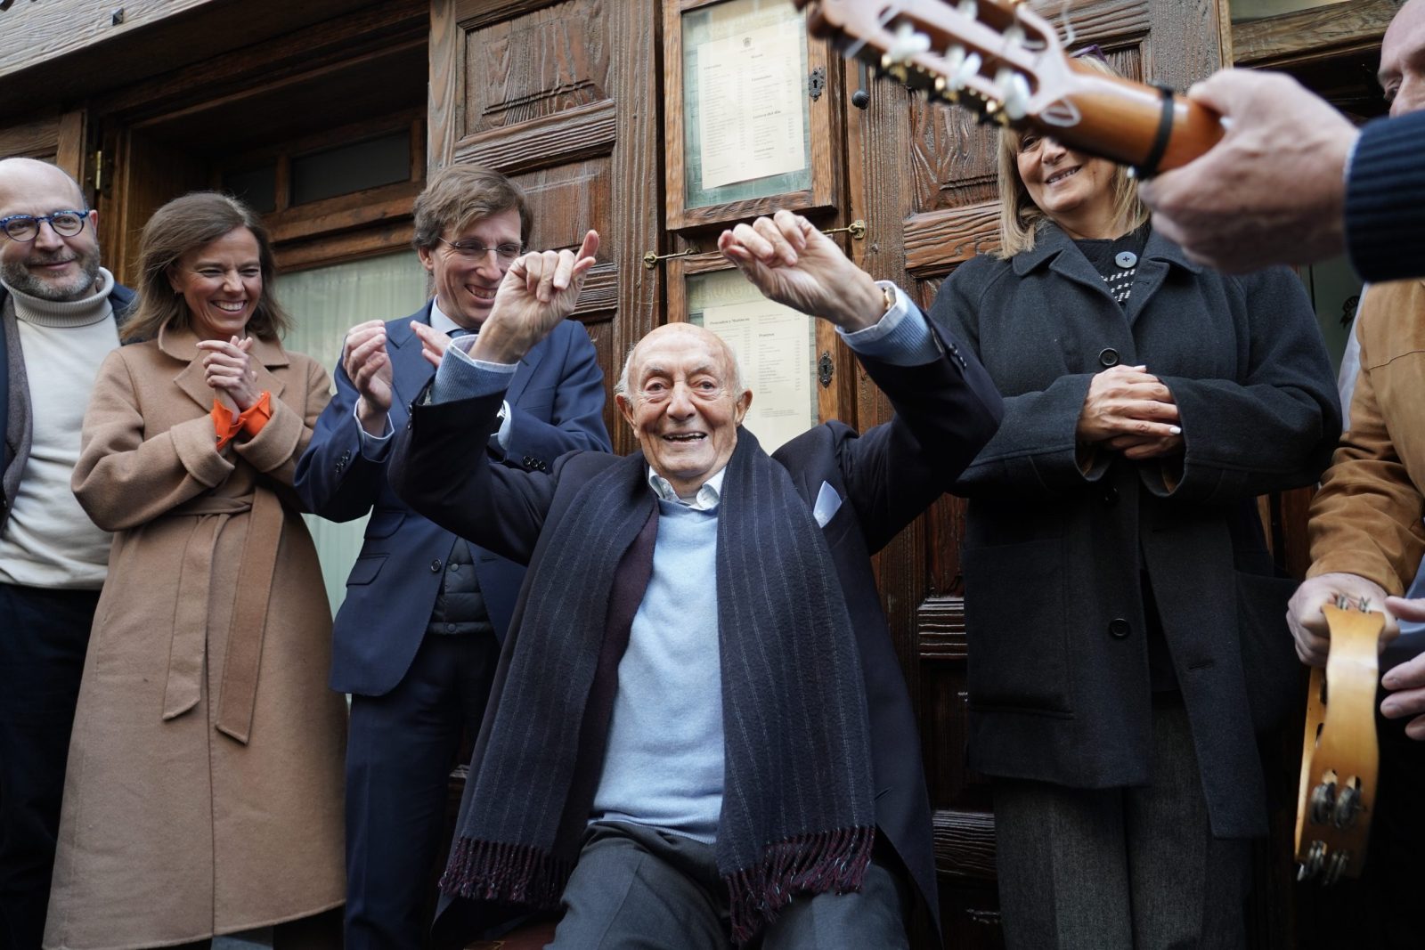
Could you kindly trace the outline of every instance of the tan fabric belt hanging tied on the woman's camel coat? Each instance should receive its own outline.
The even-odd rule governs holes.
[[[181,716],[202,698],[202,668],[208,649],[208,617],[212,598],[212,568],[218,536],[228,520],[248,514],[248,531],[238,567],[238,588],[228,628],[228,655],[222,664],[214,726],[244,745],[252,732],[252,709],[258,692],[262,637],[266,632],[272,574],[282,540],[282,503],[256,489],[252,500],[200,497],[170,514],[195,517],[184,547],[178,575],[178,605],[168,647],[168,679],[164,687],[164,721]]]

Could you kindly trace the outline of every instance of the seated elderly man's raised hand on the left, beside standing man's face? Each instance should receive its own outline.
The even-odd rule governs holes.
[[[470,356],[492,363],[517,363],[573,313],[584,275],[594,266],[598,232],[590,231],[579,252],[532,251],[506,271],[490,316]]]

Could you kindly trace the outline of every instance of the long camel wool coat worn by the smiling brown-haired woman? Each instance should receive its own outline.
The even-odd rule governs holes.
[[[160,947],[342,903],[346,706],[291,491],[326,373],[255,340],[272,417],[217,450],[188,330],[110,353],[74,493],[115,531],[80,688],[44,946]]]

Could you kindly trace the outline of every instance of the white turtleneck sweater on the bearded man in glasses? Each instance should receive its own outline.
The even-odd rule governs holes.
[[[70,477],[80,457],[80,426],[100,363],[118,346],[108,295],[114,275],[83,301],[56,303],[6,285],[19,318],[30,383],[30,459],[10,518],[0,531],[0,583],[98,590],[110,534],[74,499]]]

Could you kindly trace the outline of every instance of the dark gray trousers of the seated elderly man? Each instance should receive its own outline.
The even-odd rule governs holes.
[[[908,947],[903,894],[872,862],[859,892],[795,897],[762,950]],[[731,950],[725,886],[710,845],[621,822],[589,826],[544,950]]]

